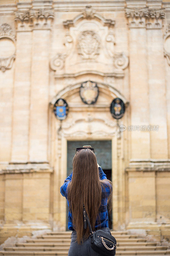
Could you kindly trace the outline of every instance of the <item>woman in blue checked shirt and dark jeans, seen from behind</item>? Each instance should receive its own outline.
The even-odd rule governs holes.
[[[72,230],[68,256],[97,256],[91,248],[90,231],[84,228],[83,204],[89,216],[92,231],[102,229],[109,233],[107,200],[112,197],[113,184],[90,148],[83,148],[73,157],[73,171],[60,188],[69,206],[68,228]],[[108,211],[110,212],[112,203]]]

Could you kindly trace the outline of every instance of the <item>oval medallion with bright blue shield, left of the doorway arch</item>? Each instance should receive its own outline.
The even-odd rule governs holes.
[[[58,99],[54,104],[54,114],[59,120],[66,118],[69,111],[67,102],[64,99]]]

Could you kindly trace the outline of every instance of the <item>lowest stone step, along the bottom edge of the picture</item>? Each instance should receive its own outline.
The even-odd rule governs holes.
[[[117,250],[117,249],[116,249]],[[7,251],[0,251],[0,255],[10,255],[10,256],[34,256],[34,255],[47,255],[47,256],[67,256],[68,255],[68,251],[57,251],[57,252],[41,252],[41,251],[38,251],[38,252],[16,252],[16,251],[11,251],[11,252],[7,252]],[[119,256],[119,255],[126,255],[126,256],[132,256],[132,255],[147,255],[147,256],[152,256],[152,255],[170,255],[170,252],[168,252],[168,250],[162,250],[162,251],[134,251],[134,252],[129,252],[129,251],[119,251],[119,252],[116,252],[116,256]]]

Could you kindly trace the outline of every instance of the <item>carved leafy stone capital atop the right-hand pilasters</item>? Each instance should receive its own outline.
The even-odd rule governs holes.
[[[162,28],[165,9],[126,8],[125,16],[129,21],[129,28]]]

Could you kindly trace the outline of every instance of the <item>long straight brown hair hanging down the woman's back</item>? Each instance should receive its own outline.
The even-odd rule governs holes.
[[[101,222],[98,211],[101,205],[101,186],[104,187],[105,185],[106,187],[107,183],[107,186],[110,185],[111,189],[113,184],[108,179],[100,180],[96,156],[88,148],[78,151],[73,157],[72,164],[73,174],[72,180],[67,187],[67,197],[69,210],[72,213],[73,228],[77,233],[76,241],[80,244],[90,235],[88,225],[86,229],[84,228],[83,204],[89,216],[92,230],[95,229],[96,220],[100,228]],[[111,198],[112,190],[108,197],[108,201],[111,201],[108,212],[112,208]]]

